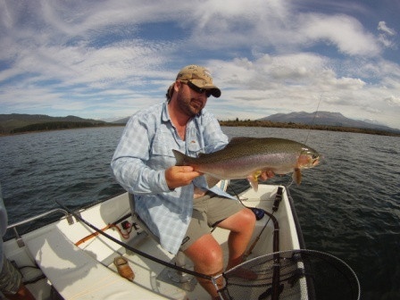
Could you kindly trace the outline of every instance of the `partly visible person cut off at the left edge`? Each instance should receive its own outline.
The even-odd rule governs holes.
[[[7,212],[5,211],[2,187],[0,185],[0,233],[2,237],[7,229]],[[14,268],[3,254],[3,239],[0,239],[0,291],[7,299],[34,300],[29,289],[21,280],[21,273]],[[0,298],[2,298],[0,293]]]

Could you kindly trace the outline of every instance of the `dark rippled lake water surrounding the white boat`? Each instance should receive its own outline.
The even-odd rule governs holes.
[[[110,161],[122,127],[0,137],[9,223],[121,194]],[[223,128],[229,137],[285,137],[323,160],[290,187],[306,247],[336,255],[358,275],[362,299],[400,299],[400,138],[298,129]],[[271,183],[288,184],[288,176]],[[247,186],[245,180],[236,188]],[[49,220],[45,220],[49,221]],[[33,227],[42,225],[37,222]],[[32,228],[32,226],[30,227]]]

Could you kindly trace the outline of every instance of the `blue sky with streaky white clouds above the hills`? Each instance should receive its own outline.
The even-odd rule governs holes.
[[[0,113],[117,120],[187,64],[220,120],[341,112],[400,129],[400,0],[0,0]]]

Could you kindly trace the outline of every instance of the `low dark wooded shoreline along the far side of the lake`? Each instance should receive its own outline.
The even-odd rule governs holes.
[[[379,136],[388,137],[400,137],[400,133],[383,131],[377,129],[360,129],[360,128],[349,128],[349,127],[338,127],[328,125],[307,125],[297,124],[293,122],[282,123],[272,121],[219,121],[221,126],[226,127],[265,127],[265,128],[283,128],[283,129],[312,129],[312,130],[326,130],[326,131],[337,131],[337,132],[352,132],[352,133],[363,133]],[[83,124],[81,122],[63,122],[63,126],[49,127],[49,123],[38,123],[35,126],[29,126],[24,129],[14,129],[12,132],[0,133],[0,137],[14,136],[27,133],[35,132],[46,132],[56,130],[68,130],[68,129],[86,129],[86,128],[104,128],[104,127],[124,127],[122,123],[101,123],[101,124]],[[55,125],[55,124],[54,124]],[[58,123],[60,125],[60,123]]]

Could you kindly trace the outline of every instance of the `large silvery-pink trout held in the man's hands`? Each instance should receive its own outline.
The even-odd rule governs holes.
[[[209,187],[221,179],[247,179],[256,191],[263,171],[292,174],[297,185],[302,169],[319,164],[320,154],[302,143],[278,137],[234,137],[223,149],[210,154],[187,156],[172,149],[178,166],[191,166],[204,173]]]

